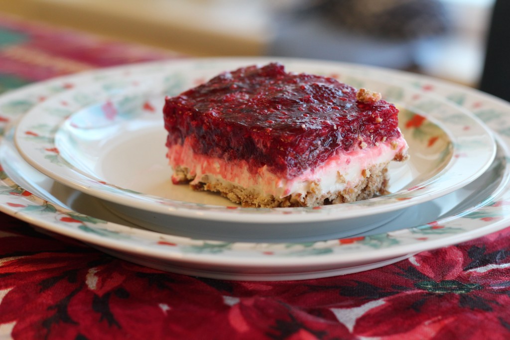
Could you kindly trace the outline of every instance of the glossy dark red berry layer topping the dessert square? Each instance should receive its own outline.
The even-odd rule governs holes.
[[[338,150],[400,137],[395,106],[356,99],[357,93],[330,77],[287,73],[277,63],[224,72],[166,98],[167,146],[188,138],[196,153],[293,178]]]

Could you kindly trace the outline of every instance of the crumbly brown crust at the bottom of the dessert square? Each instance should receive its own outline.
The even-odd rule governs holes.
[[[174,182],[188,182],[194,179],[188,168],[177,167],[173,174]],[[372,198],[374,195],[387,194],[388,163],[377,164],[363,170],[362,179],[341,191],[326,192],[320,190],[319,184],[310,186],[311,189],[303,197],[289,195],[283,198],[273,195],[261,195],[254,189],[243,188],[231,182],[218,181],[212,176],[204,175],[195,185],[190,185],[196,191],[218,192],[222,196],[244,207],[291,207],[291,206],[319,206],[359,201]]]

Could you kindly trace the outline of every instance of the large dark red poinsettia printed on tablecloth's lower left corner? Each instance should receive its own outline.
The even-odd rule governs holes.
[[[14,258],[0,276],[0,291],[12,288],[0,324],[15,322],[14,339],[186,338],[227,326],[222,296],[197,279],[87,249]]]

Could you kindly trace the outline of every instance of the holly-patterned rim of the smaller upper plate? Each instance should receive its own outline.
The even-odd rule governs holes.
[[[409,108],[411,116],[405,124],[409,124],[409,129],[406,132],[412,132],[413,135],[425,135],[423,138],[428,140],[428,145],[424,141],[421,145],[422,149],[426,149],[427,146],[444,145],[443,149],[438,149],[436,155],[429,155],[430,159],[440,159],[438,169],[429,178],[390,195],[358,202],[321,207],[242,208],[233,206],[234,203],[230,206],[208,205],[136,192],[131,188],[120,187],[103,178],[98,178],[94,173],[81,171],[67,162],[65,157],[60,154],[61,148],[55,142],[56,137],[59,135],[61,126],[73,124],[76,112],[94,108],[95,113],[97,111],[95,108],[100,106],[101,112],[107,117],[105,120],[115,120],[118,118],[118,112],[122,112],[119,109],[120,105],[116,104],[117,102],[128,102],[132,105],[137,101],[133,93],[143,93],[144,91],[161,93],[165,90],[168,77],[185,79],[187,82],[185,84],[188,85],[182,85],[177,91],[180,92],[188,88],[189,84],[196,83],[196,79],[205,80],[208,75],[215,75],[225,69],[235,69],[239,66],[256,63],[260,64],[261,59],[202,59],[199,62],[174,62],[168,64],[167,68],[155,69],[152,72],[137,72],[137,68],[133,67],[130,74],[120,74],[117,77],[111,76],[109,79],[105,79],[103,87],[98,86],[101,83],[89,87],[80,86],[40,103],[21,119],[16,130],[16,144],[25,160],[39,171],[89,195],[128,208],[137,208],[162,215],[192,218],[203,223],[211,220],[246,225],[249,223],[250,227],[254,223],[289,224],[344,221],[401,210],[404,207],[419,204],[461,188],[481,175],[494,159],[496,147],[490,131],[478,119],[458,109],[450,102],[430,94],[418,95],[414,89],[409,90],[406,86],[394,84],[376,76],[352,74],[349,67],[342,64],[320,66],[314,61],[296,60],[285,62],[285,64],[293,71],[319,74],[330,72],[333,75],[337,73],[337,76],[349,77],[346,83],[354,83],[354,85],[358,85],[357,87],[376,88],[381,90],[388,100],[397,101],[402,107]],[[130,87],[129,84],[132,86]],[[115,99],[112,99],[111,96],[115,96]],[[90,98],[91,101],[87,102],[87,98]],[[151,112],[147,115],[154,116],[154,103],[150,104],[142,99],[138,105],[138,112],[147,111],[145,107],[148,105],[152,110],[148,110]],[[158,111],[156,110],[156,114]],[[112,115],[117,116],[112,117]],[[446,131],[452,141],[451,144],[442,141],[438,136],[440,134],[434,130],[430,132],[430,129],[426,129],[429,125],[438,125],[423,119],[424,115],[428,120],[441,126],[443,131],[440,134],[444,135]],[[136,118],[137,115],[132,115],[130,112],[129,114],[124,113],[124,116],[122,119],[118,118],[118,124],[134,119],[133,116]],[[71,123],[67,124],[69,121]],[[94,122],[89,121],[88,123],[93,125]],[[112,126],[115,125],[109,125],[109,128]],[[163,129],[161,130],[163,131]],[[88,133],[89,130],[87,130]],[[79,143],[76,140],[72,142]],[[441,144],[442,142],[443,144]],[[161,143],[163,144],[163,142]],[[434,143],[437,144],[434,145]],[[446,150],[449,145],[452,145],[453,150]],[[444,151],[453,154],[447,162],[442,161],[441,153]],[[450,154],[448,153],[447,156]],[[163,160],[163,157],[161,159]],[[428,160],[423,163],[428,163]],[[171,223],[171,220],[168,222]]]

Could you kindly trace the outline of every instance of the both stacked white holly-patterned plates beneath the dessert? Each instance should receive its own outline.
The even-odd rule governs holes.
[[[392,165],[391,194],[314,208],[242,208],[172,185],[164,96],[270,61],[136,64],[1,96],[0,210],[148,267],[241,280],[358,272],[510,225],[510,104],[361,65],[277,60],[289,71],[381,92],[399,107],[411,159]]]

